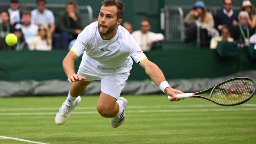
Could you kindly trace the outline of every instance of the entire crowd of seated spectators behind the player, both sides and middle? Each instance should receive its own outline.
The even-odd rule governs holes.
[[[37,8],[32,11],[19,9],[19,0],[11,0],[10,8],[0,13],[0,49],[2,50],[68,50],[82,31],[82,18],[74,2],[66,3],[65,11],[58,16],[46,9],[46,0],[36,0]],[[185,16],[185,42],[197,40],[198,26],[202,47],[215,49],[220,41],[236,42],[239,47],[256,43],[256,16],[249,0],[242,2],[241,11],[233,10],[233,0],[223,0],[223,9],[215,15],[207,11],[203,1],[196,1]],[[140,30],[133,31],[129,22],[123,27],[134,37],[143,51],[161,46],[164,35],[151,32],[151,23],[141,20]],[[14,33],[18,42],[14,46],[5,43],[5,37]],[[254,34],[254,35],[253,35]]]

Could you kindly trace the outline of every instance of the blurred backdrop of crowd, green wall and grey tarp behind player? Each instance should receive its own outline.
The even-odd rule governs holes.
[[[256,0],[121,1],[121,25],[172,87],[194,92],[237,76],[256,80]],[[62,60],[77,35],[97,21],[101,3],[1,0],[0,97],[66,94]],[[9,33],[18,37],[14,46],[5,43]],[[100,93],[99,83],[84,94]],[[134,63],[123,94],[156,93],[160,89]]]

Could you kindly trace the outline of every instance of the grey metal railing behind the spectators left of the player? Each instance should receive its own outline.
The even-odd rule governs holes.
[[[33,10],[37,7],[35,3],[20,3],[21,10]],[[0,11],[7,10],[9,3],[0,3]],[[51,10],[55,16],[55,23],[58,23],[60,14],[66,10],[66,4],[47,4],[46,8]],[[77,6],[77,12],[82,17],[82,26],[86,27],[93,22],[93,11],[91,6]]]

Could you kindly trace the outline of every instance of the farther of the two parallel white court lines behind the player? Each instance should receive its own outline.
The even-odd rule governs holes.
[[[155,106],[127,106],[127,109],[137,108],[192,108],[192,107],[218,107],[215,104],[189,104],[189,105],[155,105]],[[240,106],[256,107],[256,104],[242,104]],[[0,108],[0,111],[42,111],[58,110],[59,107],[41,107],[41,108]],[[78,110],[96,110],[96,107],[77,107]]]

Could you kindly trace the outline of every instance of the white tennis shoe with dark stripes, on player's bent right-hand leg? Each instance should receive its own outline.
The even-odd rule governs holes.
[[[123,97],[119,97],[118,100],[122,100],[124,102],[123,107],[124,107],[124,110],[125,110],[128,101],[125,98],[123,98]],[[124,119],[125,119],[125,112],[124,112],[124,110],[123,110],[123,112],[121,113],[121,115],[119,117],[112,117],[112,118],[110,118],[110,124],[111,124],[111,126],[113,128],[117,128],[117,127],[119,127],[120,125],[123,124]]]

